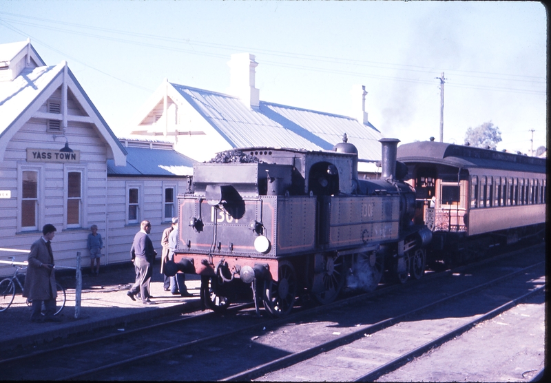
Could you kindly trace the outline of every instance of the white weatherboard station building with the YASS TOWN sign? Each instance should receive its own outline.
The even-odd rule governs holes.
[[[46,65],[30,41],[0,45],[0,260],[26,260],[16,250],[46,223],[59,266],[74,267],[77,252],[89,263],[92,224],[103,265],[129,260],[141,220],[160,250],[193,163],[171,143],[119,140],[65,61]],[[0,276],[12,272],[0,264]]]

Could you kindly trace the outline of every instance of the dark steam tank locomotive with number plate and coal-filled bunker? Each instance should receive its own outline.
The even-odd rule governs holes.
[[[361,180],[357,149],[270,147],[223,152],[194,165],[194,193],[178,196],[176,270],[202,276],[201,299],[223,311],[250,284],[257,310],[291,311],[304,291],[322,304],[344,284],[372,290],[385,270],[421,278],[431,232],[414,225],[415,191],[384,138],[382,177]]]

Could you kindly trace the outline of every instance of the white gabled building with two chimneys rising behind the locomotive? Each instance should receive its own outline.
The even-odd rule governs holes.
[[[161,136],[177,151],[202,162],[238,147],[331,150],[346,134],[358,150],[358,172],[375,176],[382,134],[368,121],[363,85],[352,90],[354,116],[342,116],[260,101],[253,54],[232,54],[228,65],[226,94],[165,79],[130,121],[129,136]]]

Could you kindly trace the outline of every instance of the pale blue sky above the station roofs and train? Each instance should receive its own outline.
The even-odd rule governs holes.
[[[498,149],[546,145],[546,14],[529,1],[6,1],[0,43],[63,60],[116,134],[163,79],[227,92],[233,53],[256,55],[260,100],[369,121],[403,143],[492,121]]]

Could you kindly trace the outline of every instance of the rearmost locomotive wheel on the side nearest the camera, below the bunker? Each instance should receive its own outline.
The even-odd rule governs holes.
[[[291,311],[297,296],[297,276],[291,262],[283,260],[278,267],[278,281],[264,281],[264,308],[273,316]]]

